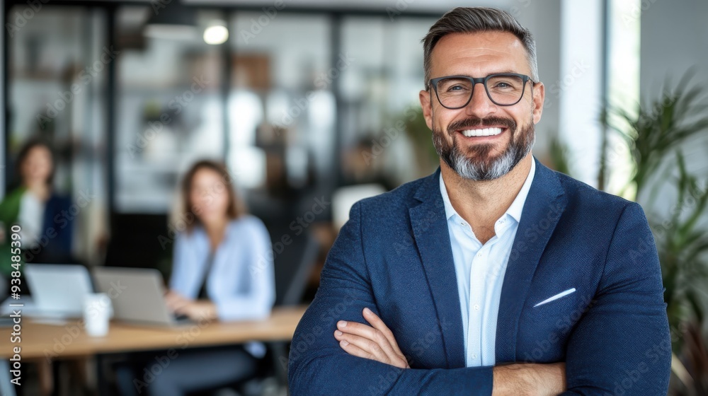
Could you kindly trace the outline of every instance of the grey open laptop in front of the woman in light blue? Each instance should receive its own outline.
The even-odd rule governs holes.
[[[162,275],[156,269],[96,267],[92,273],[96,289],[110,296],[113,318],[144,325],[190,323],[167,308]]]

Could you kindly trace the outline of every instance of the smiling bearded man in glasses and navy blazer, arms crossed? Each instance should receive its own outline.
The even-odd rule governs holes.
[[[455,8],[423,44],[440,169],[351,209],[292,341],[292,395],[666,395],[646,217],[532,157],[531,33]]]

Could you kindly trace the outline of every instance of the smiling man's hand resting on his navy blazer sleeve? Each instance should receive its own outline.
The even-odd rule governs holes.
[[[348,354],[390,364],[398,368],[411,368],[396,343],[393,332],[369,308],[363,310],[364,319],[371,326],[358,322],[337,322],[334,338]]]

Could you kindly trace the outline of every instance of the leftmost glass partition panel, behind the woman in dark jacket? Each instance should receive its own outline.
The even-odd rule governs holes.
[[[98,260],[107,226],[105,117],[110,64],[102,8],[6,6],[5,191],[18,186],[18,151],[41,138],[54,151],[53,187],[72,197],[73,254]],[[79,216],[79,214],[81,214]],[[55,226],[64,223],[55,219]],[[47,238],[51,238],[49,235]]]

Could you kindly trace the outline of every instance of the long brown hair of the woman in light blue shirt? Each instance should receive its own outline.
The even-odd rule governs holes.
[[[185,221],[187,232],[191,232],[194,229],[195,223],[199,222],[199,218],[194,211],[194,204],[191,199],[192,182],[194,180],[194,175],[197,174],[198,170],[208,169],[218,173],[222,177],[222,182],[224,182],[224,188],[229,194],[229,206],[227,206],[227,216],[229,219],[236,219],[239,216],[246,213],[246,206],[244,202],[237,196],[234,190],[235,180],[229,174],[226,165],[217,161],[202,160],[198,161],[192,168],[190,168],[187,173],[185,173],[182,180],[182,214],[183,219],[190,219],[192,221]]]

